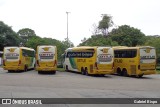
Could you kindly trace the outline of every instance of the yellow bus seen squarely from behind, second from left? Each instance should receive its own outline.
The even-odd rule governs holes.
[[[37,46],[36,71],[55,74],[57,69],[57,47],[51,45]]]

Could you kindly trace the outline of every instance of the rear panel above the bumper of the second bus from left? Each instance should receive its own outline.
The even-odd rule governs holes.
[[[56,49],[51,46],[40,46],[38,60],[40,67],[54,67],[56,65]]]

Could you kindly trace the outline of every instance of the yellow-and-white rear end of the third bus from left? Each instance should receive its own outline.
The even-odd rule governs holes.
[[[111,47],[97,48],[97,61],[95,63],[97,74],[113,73],[113,49]]]

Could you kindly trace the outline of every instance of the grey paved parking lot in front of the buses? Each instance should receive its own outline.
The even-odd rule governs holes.
[[[59,71],[55,75],[38,74],[34,70],[8,73],[0,68],[0,98],[160,98],[160,75],[148,75],[140,79],[117,75],[92,77]],[[1,106],[7,107],[7,105]],[[30,106],[33,107],[33,105]],[[82,105],[58,104],[54,106],[81,107]],[[106,107],[106,105],[89,104],[83,106]],[[128,107],[127,105],[110,106]],[[135,106],[135,104],[130,106]],[[145,107],[146,105],[138,106]],[[153,107],[153,105],[147,106]],[[158,107],[158,105],[154,106]]]

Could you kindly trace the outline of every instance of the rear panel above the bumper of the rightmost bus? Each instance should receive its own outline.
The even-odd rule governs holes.
[[[153,47],[140,48],[140,69],[154,70],[156,67],[156,51]]]

